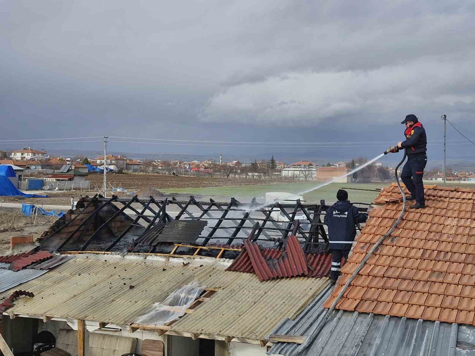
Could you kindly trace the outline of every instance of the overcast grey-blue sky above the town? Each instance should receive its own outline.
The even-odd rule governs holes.
[[[23,139],[104,134],[351,141],[361,147],[247,149],[186,141],[109,147],[256,152],[257,158],[274,152],[375,156],[403,139],[399,122],[409,113],[425,125],[429,140],[443,138],[441,114],[475,133],[474,2],[364,3],[0,0],[0,139],[22,139],[0,145],[100,150],[100,142]],[[463,139],[451,127],[448,132],[449,140]],[[110,139],[119,140],[137,141]],[[459,142],[447,157],[473,158],[474,145]],[[362,147],[371,145],[378,147]],[[442,146],[429,146],[429,159],[441,152]]]

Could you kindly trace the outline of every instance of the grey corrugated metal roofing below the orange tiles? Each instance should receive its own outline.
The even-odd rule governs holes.
[[[328,293],[327,293],[328,294]],[[311,304],[272,334],[312,335],[323,308]],[[473,356],[475,327],[422,319],[335,310],[320,334],[301,345],[276,343],[269,355],[285,356]]]

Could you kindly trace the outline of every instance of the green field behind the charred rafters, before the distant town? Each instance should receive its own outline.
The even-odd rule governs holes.
[[[162,193],[185,193],[190,195],[201,194],[205,197],[211,197],[219,201],[227,201],[230,197],[235,197],[241,202],[249,202],[253,197],[257,198],[260,203],[265,202],[266,192],[287,192],[298,194],[304,190],[310,189],[318,185],[318,182],[306,183],[276,183],[255,186],[228,186],[228,187],[206,187],[206,188],[170,188],[161,189]],[[317,190],[313,190],[304,194],[305,204],[319,203],[321,199],[325,199],[326,203],[334,203],[336,201],[336,192],[342,187],[351,187],[359,189],[375,189],[386,187],[388,183],[332,183]],[[365,190],[347,189],[349,199],[352,202],[371,203],[377,196],[378,192],[370,192]]]

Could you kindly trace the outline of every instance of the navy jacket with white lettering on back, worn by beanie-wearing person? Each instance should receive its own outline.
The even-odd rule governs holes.
[[[350,250],[356,236],[356,224],[364,223],[368,214],[358,212],[358,208],[348,200],[337,201],[327,209],[323,223],[328,225],[330,248]]]

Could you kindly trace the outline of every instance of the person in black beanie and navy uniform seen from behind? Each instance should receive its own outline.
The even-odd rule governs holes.
[[[332,249],[331,284],[335,284],[340,275],[342,257],[345,260],[348,258],[356,236],[356,224],[368,220],[368,214],[358,212],[358,208],[350,203],[346,190],[339,189],[336,198],[338,201],[327,209],[323,219],[323,223],[328,225],[328,240]]]

